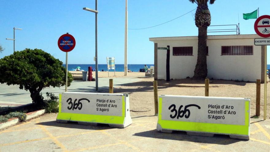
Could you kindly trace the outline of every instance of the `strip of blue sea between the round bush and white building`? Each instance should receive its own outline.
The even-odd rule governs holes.
[[[154,66],[154,64],[146,64],[148,68],[150,66]],[[66,64],[63,64],[66,67]],[[67,69],[68,71],[75,71],[77,67],[80,67],[81,70],[88,71],[88,67],[95,68],[95,64],[68,64]],[[128,64],[128,69],[133,72],[139,72],[140,68],[144,68],[145,64]],[[98,71],[108,71],[107,64],[98,64]],[[114,71],[114,70],[109,70]],[[115,64],[115,71],[117,72],[124,72],[124,64]]]

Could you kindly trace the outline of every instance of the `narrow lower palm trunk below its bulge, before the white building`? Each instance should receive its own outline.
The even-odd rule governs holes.
[[[207,64],[206,64],[206,45],[207,45],[207,25],[198,27],[198,57],[197,64],[194,70],[195,79],[205,79],[207,76]]]

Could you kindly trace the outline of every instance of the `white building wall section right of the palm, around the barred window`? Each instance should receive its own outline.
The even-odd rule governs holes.
[[[261,46],[254,39],[208,40],[208,78],[256,81],[261,78]],[[221,46],[253,45],[253,55],[221,55]]]

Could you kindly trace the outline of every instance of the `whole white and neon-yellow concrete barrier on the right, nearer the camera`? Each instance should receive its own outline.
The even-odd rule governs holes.
[[[250,99],[203,96],[159,96],[160,132],[187,131],[190,135],[249,139]]]

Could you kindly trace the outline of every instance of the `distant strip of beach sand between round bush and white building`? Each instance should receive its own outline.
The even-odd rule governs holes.
[[[82,76],[82,71],[68,71],[71,74],[73,74],[74,76]],[[88,74],[88,73],[87,73]],[[92,76],[93,78],[95,78],[96,76],[96,72],[93,71],[92,72]],[[115,76],[114,76],[114,72],[109,72],[109,77],[121,77],[124,76],[124,72],[115,72]],[[138,77],[138,76],[145,76],[145,72],[128,72],[127,73],[128,77]],[[108,77],[108,72],[98,72],[98,77],[99,78],[104,78],[104,77]]]

